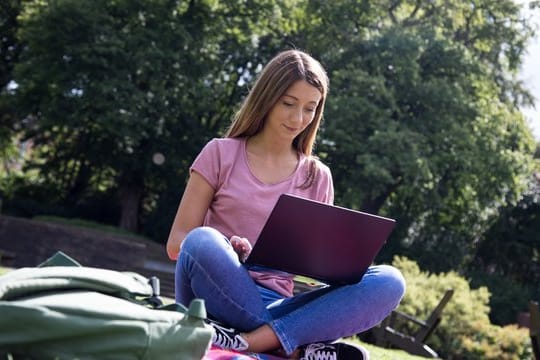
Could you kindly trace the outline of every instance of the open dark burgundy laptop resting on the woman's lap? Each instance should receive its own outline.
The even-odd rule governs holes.
[[[283,194],[245,263],[330,285],[360,281],[395,220]]]

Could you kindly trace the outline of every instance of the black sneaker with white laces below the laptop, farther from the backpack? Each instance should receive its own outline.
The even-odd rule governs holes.
[[[314,343],[302,347],[300,360],[369,360],[369,353],[357,344]]]

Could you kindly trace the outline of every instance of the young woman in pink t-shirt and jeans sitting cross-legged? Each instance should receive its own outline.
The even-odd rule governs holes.
[[[404,294],[401,273],[387,265],[370,267],[357,284],[293,296],[291,274],[242,262],[281,194],[333,203],[331,172],[312,156],[327,91],[318,61],[298,50],[279,53],[226,136],[211,140],[190,168],[167,252],[177,260],[176,301],[205,300],[219,321],[211,321],[216,345],[367,359],[365,349],[335,340],[378,324]]]

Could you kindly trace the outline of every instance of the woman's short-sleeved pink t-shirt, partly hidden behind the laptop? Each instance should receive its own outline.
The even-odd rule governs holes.
[[[191,171],[196,171],[214,188],[215,194],[204,219],[223,235],[237,235],[255,244],[266,219],[283,193],[333,203],[334,188],[330,169],[317,163],[317,176],[308,188],[302,188],[309,171],[310,158],[299,153],[296,170],[286,179],[266,184],[253,175],[247,162],[246,138],[213,139],[202,149]],[[250,272],[261,285],[291,296],[292,275],[283,272]]]

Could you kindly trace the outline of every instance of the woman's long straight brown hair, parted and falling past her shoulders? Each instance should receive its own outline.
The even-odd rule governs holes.
[[[328,76],[322,65],[300,50],[286,50],[277,54],[263,68],[253,88],[236,113],[225,137],[253,136],[262,130],[272,107],[296,81],[304,80],[321,92],[321,100],[313,121],[293,142],[297,151],[311,156],[319,129],[326,94]]]

